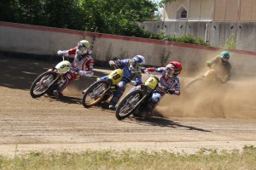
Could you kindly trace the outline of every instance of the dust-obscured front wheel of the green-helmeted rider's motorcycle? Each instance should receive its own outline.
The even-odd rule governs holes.
[[[203,88],[203,78],[198,77],[195,80],[192,80],[185,86],[185,93],[189,94],[189,96],[194,96],[201,92],[201,88]]]

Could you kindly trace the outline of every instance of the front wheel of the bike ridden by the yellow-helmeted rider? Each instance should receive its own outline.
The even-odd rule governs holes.
[[[57,74],[55,72],[46,71],[36,78],[30,88],[32,98],[39,98],[48,93],[49,88],[56,81]]]

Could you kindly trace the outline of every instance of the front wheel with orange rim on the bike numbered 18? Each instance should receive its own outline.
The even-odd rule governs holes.
[[[83,94],[82,104],[84,107],[96,105],[108,92],[108,82],[105,80],[93,83]]]

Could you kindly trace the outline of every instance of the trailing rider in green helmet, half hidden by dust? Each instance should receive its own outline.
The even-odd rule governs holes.
[[[211,70],[207,71],[203,77],[214,77],[222,83],[230,81],[230,71],[232,66],[229,59],[230,53],[228,51],[223,51],[214,59],[207,61],[206,64]]]

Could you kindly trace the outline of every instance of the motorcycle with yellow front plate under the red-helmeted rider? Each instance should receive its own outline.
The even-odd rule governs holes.
[[[148,72],[146,72],[148,74]],[[116,111],[115,116],[120,121],[128,116],[139,115],[147,109],[148,100],[154,92],[154,89],[158,87],[159,78],[148,74],[148,79],[143,84],[139,85],[140,88],[130,91],[125,95],[125,98],[121,99]],[[138,114],[136,114],[138,112]]]

